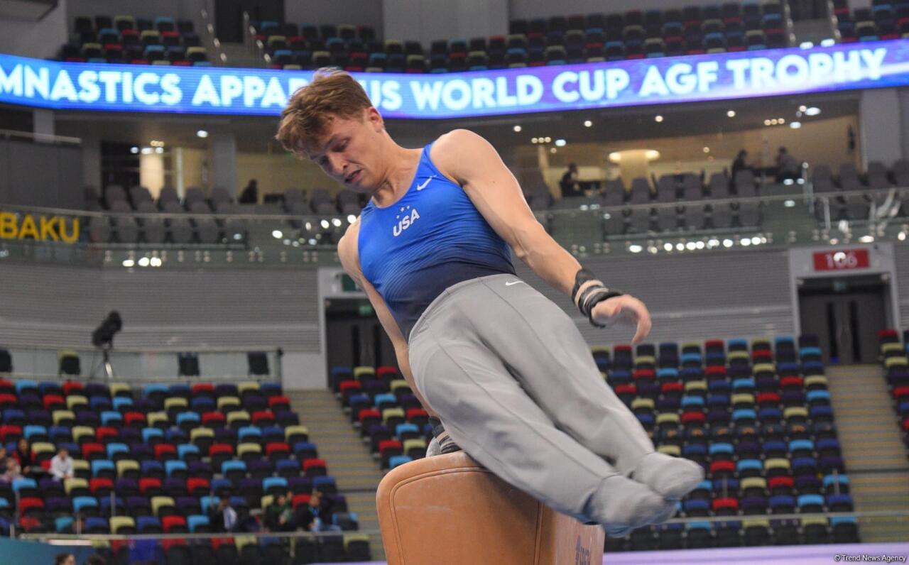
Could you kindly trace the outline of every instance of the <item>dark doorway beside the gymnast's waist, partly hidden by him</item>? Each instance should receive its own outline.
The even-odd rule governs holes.
[[[365,298],[325,301],[325,346],[332,367],[397,366],[395,347]]]

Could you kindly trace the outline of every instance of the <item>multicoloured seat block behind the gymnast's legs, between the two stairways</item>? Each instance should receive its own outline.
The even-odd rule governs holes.
[[[820,349],[812,336],[593,348],[614,392],[659,451],[697,461],[707,479],[684,517],[729,516],[635,530],[609,550],[854,542],[853,518],[774,520],[852,511]],[[335,367],[332,382],[383,469],[423,457],[425,411],[394,367]],[[658,534],[658,535],[657,535]]]

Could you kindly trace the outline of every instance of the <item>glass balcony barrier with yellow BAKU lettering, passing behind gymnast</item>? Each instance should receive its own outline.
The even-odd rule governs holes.
[[[905,241],[909,189],[812,193],[764,185],[749,196],[610,203],[600,193],[534,214],[575,254],[679,253],[748,246]],[[0,259],[126,268],[335,263],[355,214],[74,212],[0,205]]]

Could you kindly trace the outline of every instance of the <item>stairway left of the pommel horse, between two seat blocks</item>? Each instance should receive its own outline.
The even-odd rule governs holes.
[[[300,424],[309,429],[310,441],[318,445],[344,493],[350,511],[359,516],[360,530],[378,530],[375,490],[383,473],[369,454],[369,448],[350,425],[350,419],[338,410],[335,393],[329,389],[285,391],[291,407],[300,414]],[[385,559],[381,544],[372,543],[375,559]]]

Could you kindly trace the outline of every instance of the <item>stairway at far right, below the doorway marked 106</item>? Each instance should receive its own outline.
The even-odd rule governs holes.
[[[909,461],[880,365],[831,365],[827,380],[855,510],[909,507]],[[861,528],[863,541],[909,540],[905,520],[864,521]]]

